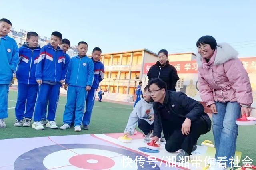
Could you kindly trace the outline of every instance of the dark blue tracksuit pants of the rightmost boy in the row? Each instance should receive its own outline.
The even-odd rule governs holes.
[[[84,113],[83,117],[83,125],[89,125],[91,116],[92,116],[92,109],[95,101],[95,95],[97,89],[91,89],[88,91],[87,97],[86,97],[86,111]]]

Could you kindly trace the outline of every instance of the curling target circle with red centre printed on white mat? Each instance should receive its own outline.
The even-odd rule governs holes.
[[[124,167],[121,159],[131,158],[132,160],[142,158],[144,160],[144,168],[137,162],[137,169],[153,169],[148,158],[141,154],[117,148],[112,146],[104,146],[97,144],[61,144],[43,146],[35,148],[20,155],[14,162],[14,169],[52,169],[60,170],[78,170],[78,169],[135,169],[136,162],[132,162],[130,166]],[[160,170],[159,166],[154,168]]]

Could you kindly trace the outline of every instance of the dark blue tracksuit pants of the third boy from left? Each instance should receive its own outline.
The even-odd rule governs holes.
[[[59,90],[60,84],[41,84],[39,86],[38,98],[36,101],[36,108],[34,113],[34,122],[41,121],[44,109],[47,107],[47,101],[49,102],[47,119],[49,121],[54,121]]]

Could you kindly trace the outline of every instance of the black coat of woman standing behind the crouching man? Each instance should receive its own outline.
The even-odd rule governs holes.
[[[167,90],[172,91],[176,91],[175,86],[180,79],[176,68],[170,65],[169,61],[167,61],[166,65],[161,65],[160,62],[157,61],[155,65],[150,67],[147,76],[149,81],[154,78],[162,79],[167,85]]]

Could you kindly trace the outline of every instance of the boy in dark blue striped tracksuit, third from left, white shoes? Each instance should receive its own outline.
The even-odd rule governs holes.
[[[32,125],[32,128],[36,130],[44,130],[44,126],[40,121],[48,99],[47,119],[49,122],[46,124],[46,127],[52,129],[58,128],[54,121],[57,107],[56,103],[60,83],[63,83],[65,79],[64,52],[58,46],[61,39],[62,34],[60,32],[52,32],[50,43],[42,47],[36,65],[36,82],[39,84],[39,92],[34,113],[34,123]]]

